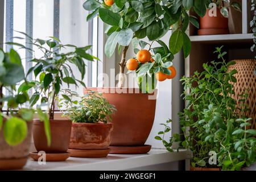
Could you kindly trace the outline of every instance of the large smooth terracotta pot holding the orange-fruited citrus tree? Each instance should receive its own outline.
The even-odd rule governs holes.
[[[156,99],[148,99],[154,94],[127,88],[88,89],[102,92],[110,104],[117,108],[112,118],[114,130],[110,146],[143,146],[154,123]]]

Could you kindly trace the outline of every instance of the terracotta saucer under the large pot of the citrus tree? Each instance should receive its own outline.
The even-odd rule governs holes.
[[[150,145],[144,146],[110,146],[110,154],[147,154],[151,150]]]

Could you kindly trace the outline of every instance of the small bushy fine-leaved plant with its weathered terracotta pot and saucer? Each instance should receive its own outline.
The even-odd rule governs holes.
[[[63,116],[71,119],[72,130],[69,152],[74,157],[100,158],[109,154],[115,107],[102,94],[87,90],[80,97],[69,89],[63,90],[59,107]]]

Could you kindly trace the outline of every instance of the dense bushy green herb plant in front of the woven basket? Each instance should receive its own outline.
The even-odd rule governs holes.
[[[247,129],[250,119],[237,115],[247,110],[245,104],[239,108],[232,98],[233,84],[236,82],[234,69],[228,72],[221,48],[216,48],[219,62],[212,61],[203,65],[204,71],[195,72],[191,77],[183,77],[185,109],[179,113],[182,133],[174,134],[169,140],[164,135],[170,132],[168,120],[164,131],[159,132],[155,139],[162,140],[167,150],[172,151],[174,142],[179,148],[192,151],[191,164],[193,167],[221,167],[224,170],[238,170],[243,166],[250,166],[256,160],[256,130]],[[246,100],[246,93],[241,96],[241,103]],[[190,128],[189,128],[190,127]],[[217,154],[216,165],[210,165],[209,152]]]

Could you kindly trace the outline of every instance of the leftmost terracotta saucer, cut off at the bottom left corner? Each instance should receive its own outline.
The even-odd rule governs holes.
[[[0,170],[22,169],[26,163],[27,157],[19,159],[0,159]]]

